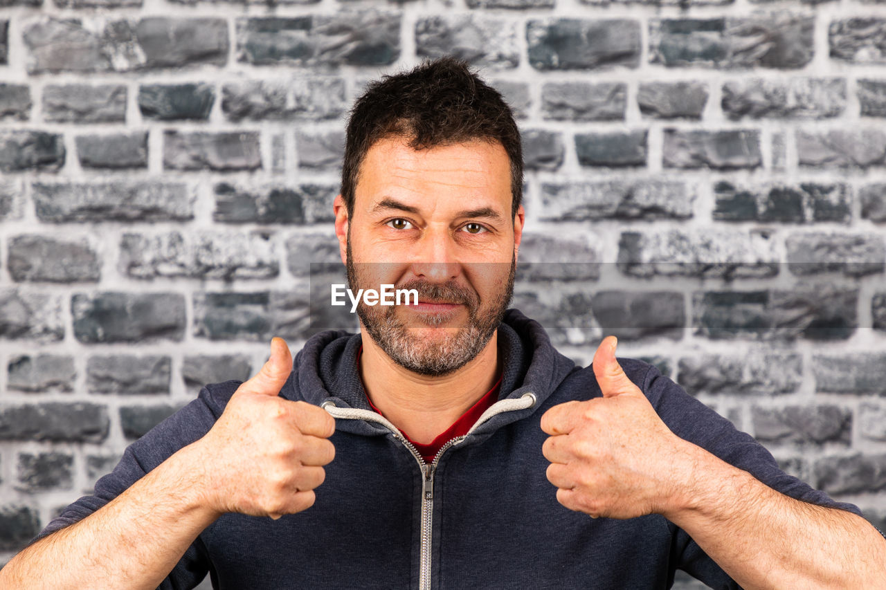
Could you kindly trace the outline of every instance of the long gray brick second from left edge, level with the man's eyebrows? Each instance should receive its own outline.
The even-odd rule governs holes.
[[[186,221],[194,195],[181,182],[43,183],[32,186],[40,221]]]

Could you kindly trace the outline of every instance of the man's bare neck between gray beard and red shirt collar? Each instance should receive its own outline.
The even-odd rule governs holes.
[[[455,423],[498,379],[498,330],[476,357],[443,377],[400,367],[365,330],[362,334],[360,377],[369,400],[409,439],[423,445]]]

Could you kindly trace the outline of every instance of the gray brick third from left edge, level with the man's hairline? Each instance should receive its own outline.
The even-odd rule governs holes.
[[[163,167],[222,172],[259,169],[259,132],[167,130],[163,133]]]

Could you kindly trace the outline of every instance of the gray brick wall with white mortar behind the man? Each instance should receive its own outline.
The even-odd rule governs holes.
[[[307,335],[346,111],[470,58],[525,136],[516,305],[886,520],[886,5],[0,0],[0,563]],[[568,262],[557,266],[551,262]]]

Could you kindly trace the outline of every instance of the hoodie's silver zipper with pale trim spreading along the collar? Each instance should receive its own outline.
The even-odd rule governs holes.
[[[524,393],[517,400],[500,400],[496,401],[492,407],[481,415],[477,422],[470,427],[468,434],[464,434],[455,439],[449,439],[447,443],[440,447],[437,454],[434,455],[433,461],[424,462],[422,454],[418,452],[415,445],[406,439],[400,432],[400,429],[394,426],[390,420],[377,412],[360,409],[360,408],[338,408],[332,400],[325,400],[320,407],[325,409],[333,418],[344,418],[350,420],[366,420],[367,422],[375,422],[382,424],[391,431],[394,437],[406,446],[408,451],[415,457],[418,462],[418,469],[422,472],[422,519],[421,519],[421,535],[419,547],[418,561],[418,590],[431,590],[431,549],[433,544],[433,516],[434,516],[434,473],[437,471],[437,465],[440,456],[462,440],[467,439],[480,424],[485,423],[494,415],[504,412],[512,412],[518,409],[532,408],[535,405],[535,394]],[[497,407],[497,408],[496,408]]]

